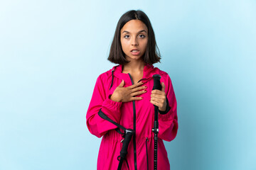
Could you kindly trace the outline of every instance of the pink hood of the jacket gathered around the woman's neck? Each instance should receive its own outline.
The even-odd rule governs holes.
[[[122,64],[119,64],[117,66],[114,66],[110,71],[112,72],[112,79],[113,76],[117,77],[118,79],[123,79],[125,83],[131,84],[131,79],[129,77],[129,74],[122,73]],[[164,71],[161,71],[159,68],[154,67],[151,64],[145,64],[143,69],[143,81],[149,81],[149,79],[153,78],[154,74],[159,74],[160,76],[163,74],[167,74]],[[137,82],[134,82],[137,83]]]

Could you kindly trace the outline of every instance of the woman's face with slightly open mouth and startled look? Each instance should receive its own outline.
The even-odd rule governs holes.
[[[146,25],[140,20],[131,20],[123,26],[120,36],[125,58],[129,61],[142,60],[148,42]]]

